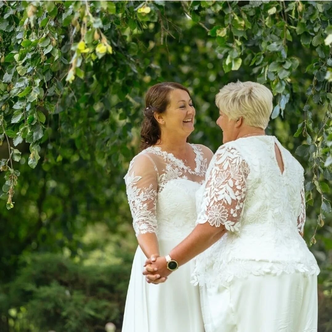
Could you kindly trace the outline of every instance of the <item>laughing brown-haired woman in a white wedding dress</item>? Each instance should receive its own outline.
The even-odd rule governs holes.
[[[128,287],[123,332],[203,332],[199,290],[190,285],[192,263],[158,286],[141,275],[146,258],[166,255],[195,227],[195,193],[212,152],[189,144],[195,108],[178,83],[152,86],[145,98],[141,152],[125,176],[138,244]],[[176,268],[176,267],[174,267]],[[154,283],[165,279],[155,276]]]

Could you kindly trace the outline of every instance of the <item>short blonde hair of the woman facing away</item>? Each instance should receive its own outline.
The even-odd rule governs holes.
[[[244,123],[265,129],[272,113],[273,95],[262,84],[255,82],[229,83],[215,96],[215,105],[229,119],[243,117]]]

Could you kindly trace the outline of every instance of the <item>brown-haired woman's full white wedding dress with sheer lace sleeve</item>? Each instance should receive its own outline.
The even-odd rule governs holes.
[[[173,154],[149,147],[133,158],[125,176],[136,235],[154,232],[160,255],[167,255],[195,227],[195,193],[205,180],[212,152],[191,144],[193,170]],[[198,287],[190,283],[194,262],[181,266],[166,283],[142,275],[146,260],[138,246],[131,269],[122,332],[204,332]]]

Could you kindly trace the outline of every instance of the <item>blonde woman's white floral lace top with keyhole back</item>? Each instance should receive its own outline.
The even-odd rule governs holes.
[[[274,136],[244,137],[219,147],[196,193],[197,223],[228,231],[196,257],[192,282],[227,286],[248,274],[318,274],[299,234],[305,222],[303,181],[302,166]]]

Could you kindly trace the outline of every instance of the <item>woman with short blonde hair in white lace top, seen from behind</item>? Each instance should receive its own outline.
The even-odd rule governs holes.
[[[272,93],[254,82],[230,83],[216,105],[224,144],[197,192],[195,229],[166,257],[181,266],[198,255],[193,282],[206,332],[317,331],[319,268],[302,238],[303,168],[265,134]],[[172,272],[165,257],[151,263],[143,272],[149,282]]]

